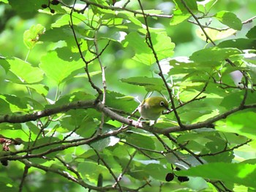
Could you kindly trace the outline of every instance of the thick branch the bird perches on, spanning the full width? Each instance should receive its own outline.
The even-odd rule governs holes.
[[[95,104],[94,101],[75,101],[62,106],[53,105],[52,108],[48,110],[42,110],[39,112],[34,112],[32,114],[27,114],[27,115],[0,115],[0,123],[25,123],[25,122],[37,120],[39,118],[46,117],[49,115],[55,115],[60,112],[66,112],[68,110],[83,109],[83,108],[84,109],[94,108],[99,112],[104,112],[104,114],[110,117],[112,120],[118,120],[119,122],[124,123],[128,126],[141,128],[143,130],[158,133],[158,134],[167,134],[167,133],[176,132],[176,131],[185,131],[185,130],[192,130],[195,128],[209,127],[211,126],[212,123],[216,122],[217,120],[225,119],[227,118],[228,115],[231,115],[235,112],[246,110],[249,108],[256,108],[256,104],[249,104],[249,105],[236,107],[233,110],[229,110],[220,115],[216,115],[214,118],[205,120],[203,122],[186,125],[185,128],[181,128],[180,126],[173,126],[169,128],[155,128],[152,126],[148,126],[146,123],[140,123],[137,120],[124,118],[123,116],[118,115],[116,112],[113,112],[113,110],[110,110],[108,107],[105,107],[105,105],[102,104],[102,102],[100,101],[97,104]]]

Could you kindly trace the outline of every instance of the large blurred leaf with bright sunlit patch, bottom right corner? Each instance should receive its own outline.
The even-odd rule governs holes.
[[[210,180],[222,180],[224,182],[236,183],[256,188],[256,165],[255,164],[227,164],[227,163],[211,163],[188,170],[176,172],[180,176],[203,177]]]

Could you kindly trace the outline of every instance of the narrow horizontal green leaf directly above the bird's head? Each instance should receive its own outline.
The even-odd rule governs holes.
[[[146,91],[161,92],[165,89],[162,79],[156,77],[130,77],[127,79],[121,79],[121,81],[132,85],[143,86],[146,88]]]

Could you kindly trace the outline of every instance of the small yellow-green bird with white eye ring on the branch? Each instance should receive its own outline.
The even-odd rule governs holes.
[[[169,110],[168,102],[162,96],[152,96],[145,99],[139,106],[141,118],[157,120],[163,110]]]

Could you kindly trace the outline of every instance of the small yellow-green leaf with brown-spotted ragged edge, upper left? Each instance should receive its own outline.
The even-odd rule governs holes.
[[[23,42],[26,47],[31,50],[34,45],[39,43],[39,37],[44,34],[45,27],[37,24],[37,26],[31,26],[29,30],[26,30],[23,34]]]

